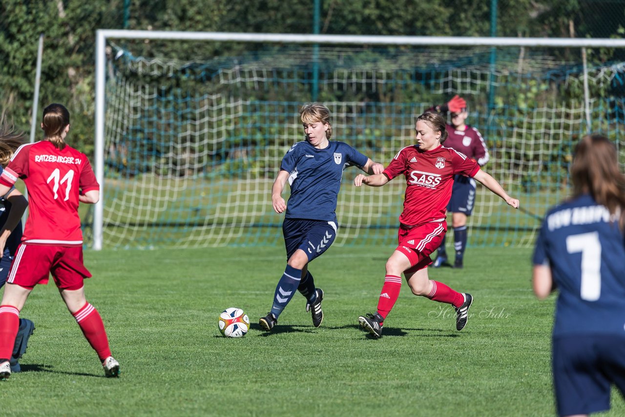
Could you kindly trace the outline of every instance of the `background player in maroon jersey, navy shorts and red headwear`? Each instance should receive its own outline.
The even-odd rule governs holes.
[[[436,111],[437,113],[449,111],[451,123],[445,126],[449,135],[445,142],[446,148],[456,149],[456,151],[476,161],[480,167],[486,165],[490,158],[486,143],[476,128],[466,124],[469,113],[467,113],[466,101],[463,98],[456,95],[446,104],[434,106],[429,111]],[[451,213],[451,226],[454,228],[454,251],[456,252],[454,268],[462,268],[464,264],[464,249],[466,249],[467,244],[467,218],[471,216],[473,211],[475,192],[476,182],[474,179],[462,174],[454,176],[451,199],[447,204],[447,212]],[[443,238],[441,246],[438,248],[436,261],[432,266],[438,268],[446,263],[447,251]]]

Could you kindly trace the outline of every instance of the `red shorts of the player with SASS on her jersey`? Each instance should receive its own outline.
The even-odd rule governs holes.
[[[447,222],[425,223],[413,228],[399,226],[397,231],[397,251],[400,251],[410,260],[411,267],[404,273],[414,273],[427,268],[432,263],[430,255],[441,246],[442,238],[447,232]]]

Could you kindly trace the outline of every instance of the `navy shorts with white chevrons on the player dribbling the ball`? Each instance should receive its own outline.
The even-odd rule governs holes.
[[[323,220],[284,219],[282,223],[286,259],[291,258],[297,249],[302,249],[308,262],[317,258],[336,239],[336,223]]]

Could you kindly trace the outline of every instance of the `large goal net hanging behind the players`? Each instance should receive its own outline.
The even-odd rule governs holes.
[[[106,46],[96,248],[282,245],[271,186],[312,99],[332,112],[332,140],[386,165],[414,143],[416,116],[464,97],[484,169],[521,200],[514,210],[478,184],[471,246],[530,246],[569,193],[583,134],[611,138],[625,163],[621,49],[586,48],[584,63],[581,48],[238,43],[211,56],[198,42],[194,56],[167,58]],[[359,172],[344,173],[335,244],[392,246],[405,183],[356,188]]]

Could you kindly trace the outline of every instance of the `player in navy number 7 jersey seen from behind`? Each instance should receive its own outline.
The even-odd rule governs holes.
[[[571,167],[573,195],[550,209],[534,249],[537,298],[558,289],[552,335],[557,413],[610,408],[625,396],[625,176],[609,139],[584,136]]]

